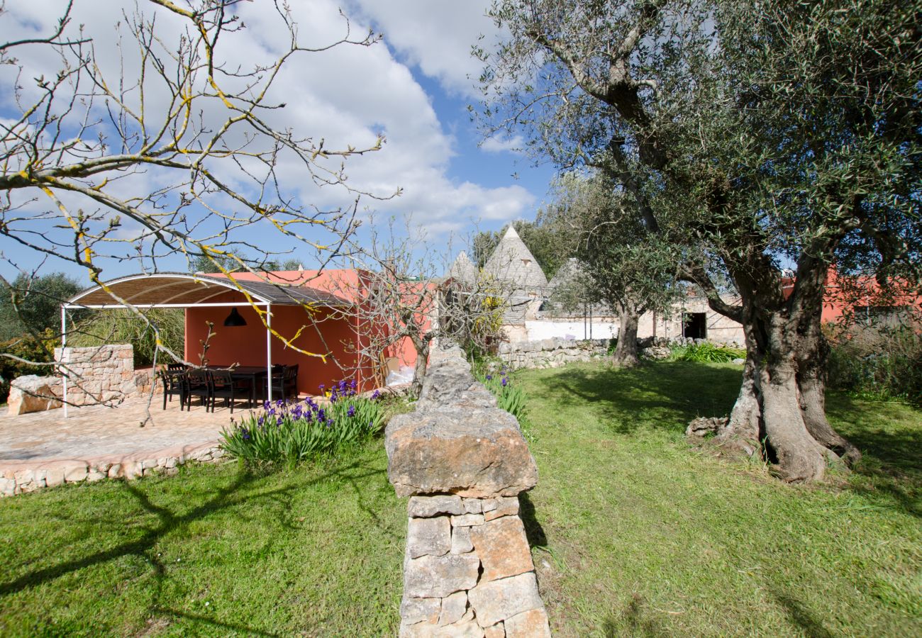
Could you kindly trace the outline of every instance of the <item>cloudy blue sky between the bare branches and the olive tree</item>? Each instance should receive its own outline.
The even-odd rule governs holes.
[[[363,217],[373,213],[378,224],[394,217],[398,227],[408,220],[413,238],[423,238],[425,245],[439,251],[450,245],[453,253],[464,248],[477,230],[498,230],[514,219],[534,219],[546,197],[552,169],[535,166],[532,159],[514,150],[516,140],[484,139],[467,110],[469,104],[476,106],[480,100],[476,81],[481,63],[470,55],[471,46],[477,43],[489,48],[502,36],[484,15],[489,2],[297,0],[290,4],[302,43],[320,46],[336,40],[346,24],[340,10],[349,18],[353,34],[372,29],[382,35],[381,41],[367,48],[337,46],[322,53],[299,53],[286,65],[276,85],[278,100],[287,104],[273,115],[277,127],[291,127],[315,139],[322,137],[327,148],[368,144],[378,133],[386,137],[382,150],[349,159],[345,166],[354,188],[381,195],[401,190],[393,199],[363,200]],[[6,14],[0,15],[0,39],[49,32],[62,5],[58,0],[7,3]],[[93,38],[103,64],[113,65],[111,75],[118,70],[114,65],[120,59],[118,31],[113,29],[120,7],[130,13],[135,4],[76,0],[71,25],[71,29],[84,25],[84,34]],[[176,20],[144,0],[139,0],[137,7],[145,14],[156,11],[164,41],[178,38],[180,25]],[[239,7],[246,29],[227,36],[222,51],[231,63],[242,65],[272,58],[284,38],[273,20],[271,3],[254,0]],[[123,48],[121,53],[124,67],[130,69],[134,59],[125,51]],[[18,58],[25,66],[19,81],[27,94],[34,88],[22,78],[51,74],[56,64],[37,47],[21,48]],[[13,71],[11,65],[0,67],[0,82],[6,86],[0,91],[0,121],[17,116],[8,90],[16,79]],[[283,167],[280,174],[285,180],[283,186],[297,193],[304,205],[335,207],[351,198],[341,189],[314,188],[296,166],[289,170]],[[127,179],[119,187],[126,191],[150,189],[159,179],[148,172]],[[217,206],[225,204],[231,205],[217,201]],[[81,203],[68,200],[65,205],[78,207]],[[36,216],[49,209],[44,200],[24,204],[24,210],[34,210]],[[132,231],[127,225],[124,236],[130,237]],[[290,257],[303,256],[304,266],[313,266],[313,257],[296,244],[279,240],[267,224],[247,232],[249,241],[257,245],[277,247],[277,242],[282,242],[283,249],[293,251]],[[41,272],[63,270],[85,279],[82,268],[53,255],[40,257],[7,238],[0,238],[0,252],[0,274],[5,277],[15,276],[15,266],[33,267],[43,258]],[[136,272],[136,266],[131,260],[107,264],[103,278]],[[186,269],[179,256],[160,260],[158,267]]]

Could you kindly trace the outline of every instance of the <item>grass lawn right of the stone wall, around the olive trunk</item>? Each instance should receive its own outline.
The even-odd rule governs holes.
[[[526,525],[557,635],[919,635],[922,412],[829,398],[866,460],[792,487],[689,450],[729,364],[521,372],[538,487]]]

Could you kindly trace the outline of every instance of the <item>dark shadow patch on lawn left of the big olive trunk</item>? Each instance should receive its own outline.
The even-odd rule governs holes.
[[[591,404],[612,431],[644,427],[682,432],[700,416],[726,416],[739,392],[739,368],[656,361],[619,370],[570,366],[534,383],[561,408]]]

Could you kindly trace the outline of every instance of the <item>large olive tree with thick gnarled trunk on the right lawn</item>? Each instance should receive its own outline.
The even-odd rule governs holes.
[[[857,461],[824,413],[822,296],[833,265],[918,285],[922,4],[503,0],[491,15],[508,36],[483,53],[488,133],[617,177],[681,277],[743,325],[722,443],[764,442],[793,482]]]

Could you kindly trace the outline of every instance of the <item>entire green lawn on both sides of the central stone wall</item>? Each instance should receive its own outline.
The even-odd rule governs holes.
[[[523,497],[558,635],[917,635],[922,413],[831,396],[866,453],[783,485],[689,449],[739,367],[527,371]],[[0,501],[0,635],[396,635],[406,502],[380,440],[323,467],[236,464]]]

